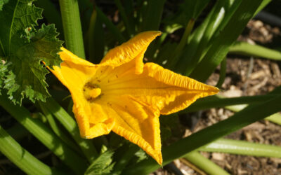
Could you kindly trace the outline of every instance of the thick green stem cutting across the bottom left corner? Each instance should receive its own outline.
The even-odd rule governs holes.
[[[26,174],[58,174],[22,148],[1,126],[0,151]]]

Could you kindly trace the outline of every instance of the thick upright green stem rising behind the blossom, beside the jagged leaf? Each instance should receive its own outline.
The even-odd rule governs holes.
[[[60,0],[66,48],[85,59],[83,34],[77,0]]]

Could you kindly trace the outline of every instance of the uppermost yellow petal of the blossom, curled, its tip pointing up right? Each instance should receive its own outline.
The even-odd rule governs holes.
[[[122,45],[119,45],[107,52],[107,55],[105,55],[103,60],[100,62],[100,65],[119,66],[126,62],[130,62],[141,53],[144,53],[151,41],[160,34],[161,31],[145,31],[136,35],[126,43],[123,43]],[[143,66],[143,55],[136,59],[136,64],[138,65],[137,72],[140,73],[140,68]]]

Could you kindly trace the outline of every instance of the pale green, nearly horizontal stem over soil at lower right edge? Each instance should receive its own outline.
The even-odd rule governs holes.
[[[218,139],[211,144],[199,148],[198,150],[207,152],[281,158],[280,146],[249,143],[248,141],[237,141],[231,139]]]

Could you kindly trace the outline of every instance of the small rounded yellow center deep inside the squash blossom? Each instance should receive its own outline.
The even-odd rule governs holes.
[[[83,87],[83,92],[86,100],[91,102],[100,96],[101,90],[100,87],[96,84],[86,83]]]

